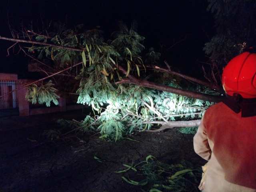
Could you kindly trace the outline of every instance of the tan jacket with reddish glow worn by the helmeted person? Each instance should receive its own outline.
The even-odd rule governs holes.
[[[204,191],[256,192],[256,116],[242,118],[222,102],[211,106],[194,150],[209,160]]]

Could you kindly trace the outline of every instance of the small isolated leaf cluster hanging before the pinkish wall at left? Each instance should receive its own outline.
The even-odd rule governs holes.
[[[57,89],[55,89],[54,84],[50,80],[48,83],[37,86],[36,84],[32,84],[28,86],[28,92],[26,93],[26,100],[32,102],[32,104],[46,104],[47,107],[50,106],[50,102],[53,102],[55,105],[58,105],[59,96],[56,94]]]

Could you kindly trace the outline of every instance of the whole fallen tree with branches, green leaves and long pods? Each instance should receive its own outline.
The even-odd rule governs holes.
[[[82,25],[60,25],[56,31],[49,25],[40,32],[23,28],[22,35],[12,32],[13,38],[0,39],[15,42],[11,47],[18,46],[46,74],[26,85],[29,101],[58,102],[55,82],[62,96],[78,94],[78,103],[92,106],[94,115],[69,122],[76,130],[100,130],[103,138],[117,140],[133,131],[198,126],[206,108],[224,98],[220,86],[171,70],[153,48],[142,54],[144,37],[136,23],[130,29],[119,26],[108,41],[102,31]],[[38,84],[46,79],[52,81]],[[163,126],[151,130],[153,124]]]

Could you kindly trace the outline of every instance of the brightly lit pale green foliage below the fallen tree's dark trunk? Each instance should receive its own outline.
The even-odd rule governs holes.
[[[174,82],[170,84],[174,87],[178,86]],[[83,99],[83,102],[86,99],[86,104],[92,105],[92,109],[100,114],[98,123],[101,125],[98,129],[102,138],[117,140],[136,130],[149,130],[152,127],[150,121],[162,120],[142,101],[152,105],[167,120],[201,118],[206,108],[212,105],[210,102],[138,86],[119,86],[119,88],[119,92],[109,92],[100,89],[90,90],[89,87],[83,90],[86,95],[80,93],[79,99]],[[106,109],[103,106],[106,106]],[[147,121],[148,123],[144,123]],[[194,133],[195,128],[184,128],[181,131],[186,134]]]

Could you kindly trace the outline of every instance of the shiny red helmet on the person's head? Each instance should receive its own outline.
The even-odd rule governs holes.
[[[256,54],[244,52],[234,57],[224,68],[222,86],[229,96],[256,98]]]

